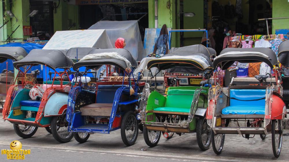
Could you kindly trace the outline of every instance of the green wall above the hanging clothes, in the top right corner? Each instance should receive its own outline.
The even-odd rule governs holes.
[[[273,0],[272,17],[289,17],[288,0]],[[276,29],[289,29],[289,19],[272,20],[272,33],[275,34]]]

